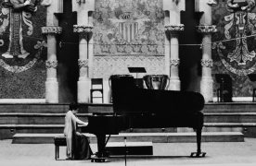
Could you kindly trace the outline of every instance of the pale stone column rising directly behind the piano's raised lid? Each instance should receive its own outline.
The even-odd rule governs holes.
[[[163,0],[163,10],[165,11],[165,65],[170,75],[171,90],[180,90],[179,78],[179,40],[178,32],[184,30],[184,25],[180,22],[180,12],[185,10],[185,0],[170,1]]]

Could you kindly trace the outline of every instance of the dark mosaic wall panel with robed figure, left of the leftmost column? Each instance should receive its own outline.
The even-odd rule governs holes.
[[[0,2],[0,99],[44,99],[45,7],[32,12]]]

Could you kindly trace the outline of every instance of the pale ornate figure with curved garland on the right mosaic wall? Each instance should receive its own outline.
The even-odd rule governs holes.
[[[238,76],[247,76],[256,70],[256,41],[250,37],[256,29],[256,14],[251,11],[254,6],[254,0],[237,4],[227,1],[224,38],[212,45],[224,67]]]

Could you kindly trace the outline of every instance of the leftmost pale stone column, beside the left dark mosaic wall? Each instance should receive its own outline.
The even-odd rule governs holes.
[[[44,0],[42,5],[47,6],[46,27],[42,28],[42,33],[47,36],[45,101],[47,103],[58,103],[56,35],[61,33],[61,28],[58,27],[58,18],[56,18],[54,13],[62,12],[59,11],[59,9],[62,9],[62,0]]]

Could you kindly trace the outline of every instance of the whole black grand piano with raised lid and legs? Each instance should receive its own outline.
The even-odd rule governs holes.
[[[118,135],[131,128],[192,127],[197,133],[197,152],[191,157],[204,157],[201,152],[204,98],[198,92],[162,89],[140,89],[134,77],[113,75],[109,78],[112,90],[113,113],[93,113],[83,133],[97,137],[96,158],[104,161],[107,135]],[[107,140],[106,140],[107,138]],[[93,161],[92,160],[92,161]]]

